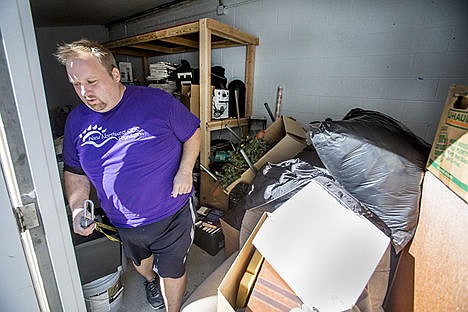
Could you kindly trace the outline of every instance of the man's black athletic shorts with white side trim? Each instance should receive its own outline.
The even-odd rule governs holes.
[[[179,278],[193,242],[195,212],[191,199],[172,216],[136,228],[119,228],[125,254],[139,266],[154,255],[153,269],[161,277]]]

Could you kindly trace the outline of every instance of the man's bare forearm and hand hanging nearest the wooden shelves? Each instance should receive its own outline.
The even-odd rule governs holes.
[[[200,153],[201,134],[200,128],[184,142],[182,158],[172,184],[172,197],[177,195],[187,194],[192,191],[192,173],[195,162],[197,161],[198,154]]]

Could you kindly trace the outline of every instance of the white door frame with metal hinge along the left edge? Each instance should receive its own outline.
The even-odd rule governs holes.
[[[22,288],[1,285],[3,308],[11,311],[84,311],[81,285],[63,210],[63,197],[56,169],[47,105],[42,84],[37,46],[29,3],[6,0],[0,3],[2,144],[1,164],[8,199],[4,198],[2,218],[17,219],[4,237],[20,257],[2,249],[2,276],[26,265],[30,281],[25,289],[34,293],[23,298]],[[3,191],[2,190],[2,191]],[[5,192],[3,193],[5,194]],[[11,224],[10,224],[11,225]],[[8,227],[2,227],[2,230]],[[15,230],[13,230],[15,229]],[[21,245],[18,245],[18,237]],[[7,242],[6,240],[2,240]],[[19,248],[18,248],[19,247]],[[24,302],[23,302],[24,301]],[[35,304],[34,304],[35,301]],[[9,309],[5,305],[18,304]]]

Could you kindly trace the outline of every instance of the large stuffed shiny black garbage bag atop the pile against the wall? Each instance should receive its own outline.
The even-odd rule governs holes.
[[[362,109],[314,123],[309,135],[329,173],[385,222],[401,251],[414,235],[430,145],[395,119]]]

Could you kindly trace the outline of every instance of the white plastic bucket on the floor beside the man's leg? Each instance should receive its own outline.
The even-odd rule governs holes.
[[[122,305],[122,267],[117,272],[83,285],[88,312],[117,312]]]

